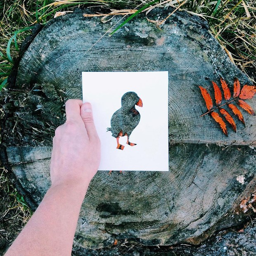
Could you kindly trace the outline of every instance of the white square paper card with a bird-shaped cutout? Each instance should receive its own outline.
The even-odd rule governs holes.
[[[83,102],[92,104],[102,145],[99,170],[168,171],[168,71],[83,72],[82,78]],[[138,97],[127,94],[122,109],[113,116],[126,92]],[[120,127],[130,133],[129,141],[135,146],[126,144],[123,136],[119,138],[123,150],[116,148]]]

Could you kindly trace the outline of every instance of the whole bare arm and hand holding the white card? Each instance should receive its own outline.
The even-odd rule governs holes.
[[[79,211],[99,164],[91,104],[68,100],[66,123],[53,138],[52,185],[5,256],[70,256]]]

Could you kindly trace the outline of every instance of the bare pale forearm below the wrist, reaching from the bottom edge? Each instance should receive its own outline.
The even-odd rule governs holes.
[[[79,211],[88,185],[89,182],[50,187],[5,255],[70,256]]]

